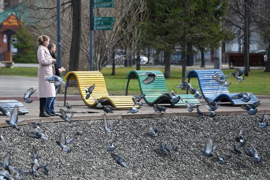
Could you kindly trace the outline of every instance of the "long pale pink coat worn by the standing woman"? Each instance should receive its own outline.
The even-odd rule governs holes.
[[[38,67],[38,98],[55,97],[54,83],[44,80],[44,76],[53,75],[53,59],[47,47],[39,45],[37,50]]]

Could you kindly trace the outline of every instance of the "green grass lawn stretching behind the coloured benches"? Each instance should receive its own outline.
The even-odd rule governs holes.
[[[111,76],[111,68],[103,68],[102,74],[105,77],[108,93],[110,95],[125,95],[127,79],[126,76],[129,71],[135,70],[135,67],[116,68],[115,76]],[[141,70],[160,70],[164,73],[164,68],[144,68]],[[187,69],[187,72],[190,69]],[[232,69],[223,69],[224,74],[234,72]],[[24,76],[37,77],[37,68],[21,68],[14,67],[14,69],[1,67],[0,76]],[[168,90],[173,89],[179,94],[185,94],[186,91],[177,89],[176,86],[180,84],[182,70],[181,68],[171,68],[171,77],[166,79]],[[229,92],[252,92],[256,95],[270,95],[270,73],[264,73],[264,70],[251,70],[248,77],[244,77],[243,82],[237,82],[234,77],[230,77],[229,82],[232,84],[228,87]],[[196,78],[191,78],[190,83],[193,87],[199,88]],[[77,88],[71,88],[69,93],[78,94]],[[138,80],[132,79],[129,85],[129,95],[140,94]]]

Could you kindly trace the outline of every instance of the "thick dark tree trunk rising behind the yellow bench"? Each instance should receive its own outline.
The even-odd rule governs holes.
[[[81,0],[72,0],[72,38],[69,56],[69,71],[79,71],[81,49]]]

